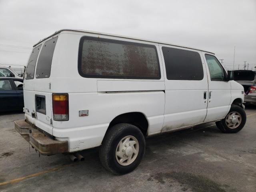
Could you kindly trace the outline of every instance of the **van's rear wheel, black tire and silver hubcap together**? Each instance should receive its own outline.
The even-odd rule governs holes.
[[[138,127],[127,123],[116,124],[102,141],[100,162],[114,174],[132,172],[140,164],[145,146],[145,138]]]

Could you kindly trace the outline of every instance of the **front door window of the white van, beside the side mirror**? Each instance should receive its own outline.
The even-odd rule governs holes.
[[[226,79],[225,72],[218,59],[213,55],[205,54],[212,81],[223,81]]]

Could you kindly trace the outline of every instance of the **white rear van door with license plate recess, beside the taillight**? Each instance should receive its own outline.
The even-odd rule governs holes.
[[[35,125],[52,134],[52,93],[50,90],[50,74],[52,58],[58,37],[47,40],[36,64],[34,79],[34,109],[36,111]]]

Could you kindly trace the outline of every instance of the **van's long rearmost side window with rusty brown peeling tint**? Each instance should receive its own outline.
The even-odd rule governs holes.
[[[160,79],[156,46],[82,37],[78,72],[87,78]]]

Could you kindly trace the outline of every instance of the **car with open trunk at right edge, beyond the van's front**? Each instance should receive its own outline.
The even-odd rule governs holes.
[[[256,72],[234,70],[234,80],[244,87],[244,102],[256,104]]]

